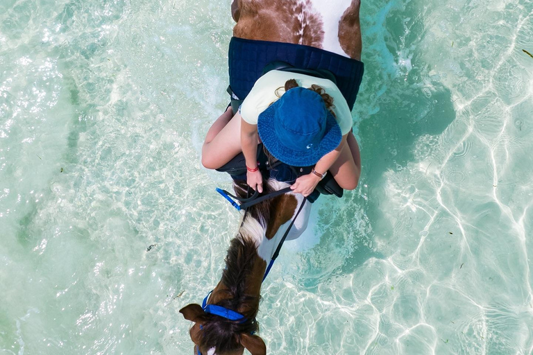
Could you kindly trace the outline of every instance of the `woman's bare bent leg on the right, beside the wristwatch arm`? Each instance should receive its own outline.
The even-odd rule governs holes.
[[[359,184],[361,176],[361,155],[353,132],[348,133],[346,142],[341,155],[330,167],[330,173],[341,188],[353,190]]]

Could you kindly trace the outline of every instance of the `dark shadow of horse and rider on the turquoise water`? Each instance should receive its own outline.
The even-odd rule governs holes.
[[[354,109],[359,120],[362,176],[357,190],[345,193],[332,206],[335,211],[325,211],[327,218],[319,220],[330,225],[312,256],[321,261],[307,262],[321,263],[323,272],[319,272],[321,277],[302,279],[307,288],[336,275],[350,274],[371,257],[383,257],[375,251],[375,237],[387,240],[394,232],[394,226],[382,215],[382,205],[388,203],[384,198],[385,173],[400,171],[419,160],[415,153],[421,137],[439,141],[439,135],[456,117],[441,74],[432,71],[423,57],[425,24],[423,17],[412,16],[423,11],[421,5],[415,1],[390,4],[367,5],[372,9],[366,15],[388,8],[382,24],[377,23],[379,16],[362,19],[363,31],[369,28],[369,35],[363,32],[366,73]],[[406,21],[407,17],[412,19]],[[376,31],[379,26],[383,27]],[[332,266],[336,259],[342,259],[341,265]]]

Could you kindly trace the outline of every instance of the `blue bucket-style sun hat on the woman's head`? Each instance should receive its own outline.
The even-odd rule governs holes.
[[[311,166],[341,143],[335,116],[321,96],[304,87],[289,89],[260,113],[257,132],[276,159],[291,166]]]

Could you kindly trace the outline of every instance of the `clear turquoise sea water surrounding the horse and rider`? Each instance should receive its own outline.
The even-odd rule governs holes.
[[[1,355],[192,354],[239,223],[199,159],[229,8],[0,1]],[[264,283],[269,354],[533,354],[532,12],[362,3],[362,179]]]

